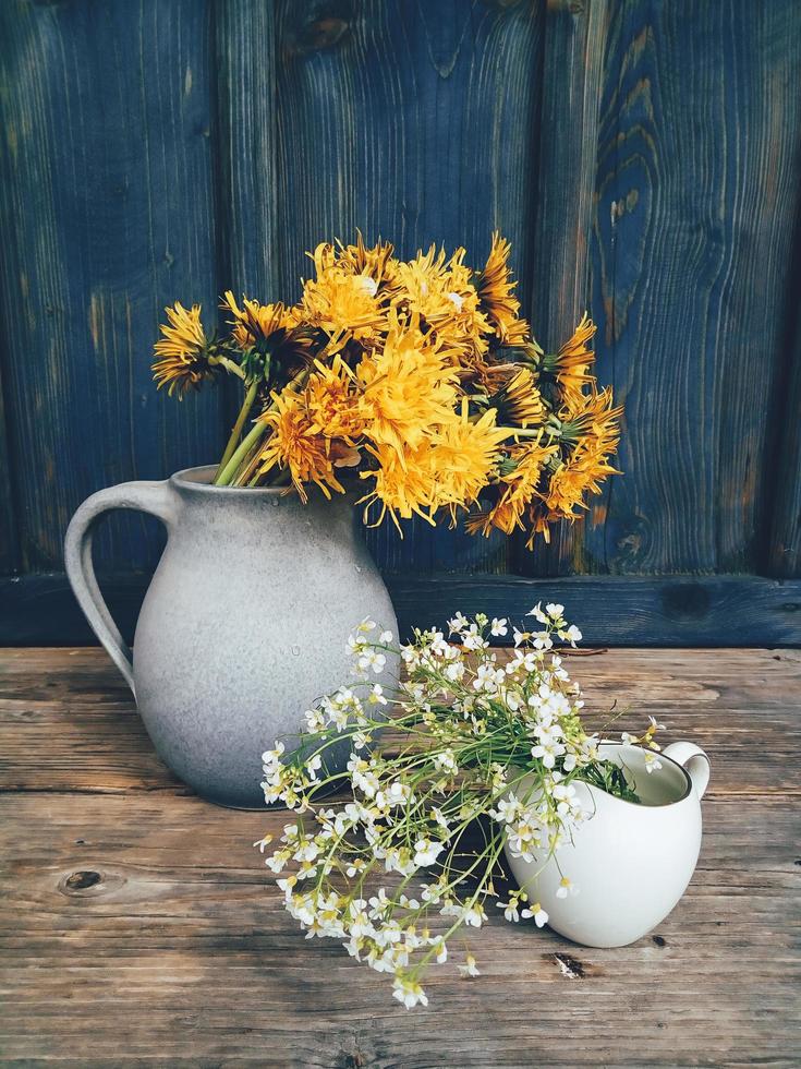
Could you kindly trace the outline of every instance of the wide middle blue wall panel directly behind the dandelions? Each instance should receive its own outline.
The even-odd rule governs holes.
[[[284,0],[276,11],[281,296],[296,298],[305,249],[356,227],[401,255],[464,244],[476,263],[499,227],[527,278],[542,7]],[[372,533],[385,568],[508,566],[501,537],[406,527],[403,541],[389,525]]]

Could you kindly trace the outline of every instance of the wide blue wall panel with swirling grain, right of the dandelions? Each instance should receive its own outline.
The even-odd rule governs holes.
[[[626,403],[626,476],[587,519],[587,570],[761,563],[799,67],[793,0],[610,7],[593,309],[602,379]]]

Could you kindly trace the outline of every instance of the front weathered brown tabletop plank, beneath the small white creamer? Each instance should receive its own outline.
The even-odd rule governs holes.
[[[712,801],[690,889],[653,937],[575,947],[499,916],[478,981],[428,1009],[307,941],[251,843],[280,813],[196,798],[7,797],[3,1058],[478,1067],[761,1065],[794,1058],[798,884],[786,804]],[[529,1007],[526,1010],[525,1007]],[[534,1008],[534,1009],[532,1009]]]

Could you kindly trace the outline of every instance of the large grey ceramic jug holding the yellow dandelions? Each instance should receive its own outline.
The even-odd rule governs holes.
[[[304,711],[349,682],[347,640],[362,620],[396,637],[397,622],[352,496],[304,505],[286,490],[213,487],[214,470],[94,494],[70,524],[64,560],[161,759],[213,802],[260,807],[263,752],[282,736],[289,749]],[[93,529],[112,508],[151,513],[168,533],[133,657],[92,564]],[[391,686],[397,668],[388,660],[373,682]]]

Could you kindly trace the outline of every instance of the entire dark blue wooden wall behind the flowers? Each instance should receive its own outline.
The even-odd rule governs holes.
[[[588,308],[627,409],[624,478],[549,548],[371,533],[410,613],[507,590],[446,574],[539,576],[599,639],[642,639],[648,603],[653,640],[715,641],[748,589],[738,640],[801,639],[796,0],[5,0],[0,43],[4,640],[84,637],[85,496],[220,452],[228,398],[151,385],[162,307],[292,301],[356,227],[476,262],[500,228],[537,336]],[[160,537],[112,519],[112,585]]]

